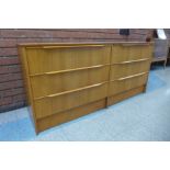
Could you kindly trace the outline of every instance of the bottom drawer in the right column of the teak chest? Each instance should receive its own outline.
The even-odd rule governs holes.
[[[148,73],[144,72],[111,81],[109,95],[114,95],[126,90],[146,84],[147,78]]]

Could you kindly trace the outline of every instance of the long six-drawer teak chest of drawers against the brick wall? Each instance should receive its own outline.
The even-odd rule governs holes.
[[[151,43],[20,44],[36,133],[144,92]]]

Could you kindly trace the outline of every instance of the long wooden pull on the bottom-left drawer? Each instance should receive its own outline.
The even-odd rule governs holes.
[[[91,88],[95,88],[95,87],[100,87],[104,83],[106,83],[107,81],[104,81],[104,82],[101,82],[101,83],[97,83],[97,84],[92,84],[92,86],[88,86],[88,87],[84,87],[84,88],[79,88],[79,89],[75,89],[75,90],[69,90],[69,91],[65,91],[65,92],[60,92],[60,93],[56,93],[56,94],[50,94],[50,95],[47,95],[47,98],[55,98],[55,97],[58,97],[58,95],[64,95],[64,94],[68,94],[68,93],[72,93],[72,92],[77,92],[77,91],[81,91],[81,90],[86,90],[86,89],[91,89]]]

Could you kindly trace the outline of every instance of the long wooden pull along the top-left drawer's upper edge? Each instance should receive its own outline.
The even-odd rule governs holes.
[[[43,46],[44,49],[52,48],[79,48],[79,47],[104,47],[105,45],[64,45],[64,46]]]

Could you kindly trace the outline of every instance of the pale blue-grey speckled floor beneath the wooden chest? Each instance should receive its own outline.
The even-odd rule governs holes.
[[[2,113],[0,140],[170,140],[170,67],[150,71],[146,93],[37,136],[26,107]]]

